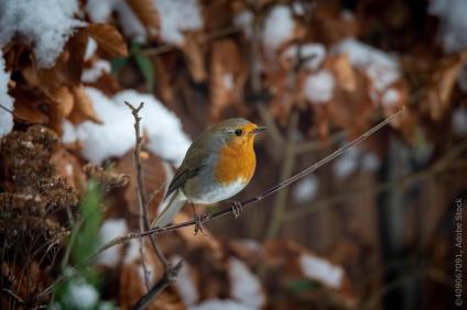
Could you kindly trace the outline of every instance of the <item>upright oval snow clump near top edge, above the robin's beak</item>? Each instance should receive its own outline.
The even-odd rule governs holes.
[[[274,53],[281,44],[292,38],[294,29],[295,21],[291,9],[287,5],[275,5],[264,21],[264,46]]]

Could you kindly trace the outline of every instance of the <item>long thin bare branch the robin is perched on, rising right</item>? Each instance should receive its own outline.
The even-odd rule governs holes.
[[[298,174],[290,177],[286,180],[283,180],[282,182],[264,190],[263,192],[261,192],[260,195],[247,199],[242,202],[240,202],[240,206],[242,208],[246,207],[250,207],[261,200],[263,200],[264,198],[271,196],[272,193],[283,189],[284,187],[290,186],[291,184],[302,179],[303,177],[314,173],[316,169],[318,169],[321,166],[329,163],[330,160],[335,159],[336,157],[338,157],[340,154],[343,154],[345,151],[347,151],[348,148],[361,143],[362,141],[367,140],[369,136],[371,136],[372,134],[374,134],[376,132],[378,132],[379,130],[381,130],[382,128],[384,128],[387,124],[389,124],[393,119],[398,118],[401,113],[403,113],[405,110],[405,108],[402,108],[401,110],[399,110],[399,112],[394,113],[393,115],[387,118],[385,120],[381,121],[379,124],[377,124],[376,126],[371,128],[370,130],[368,130],[366,133],[363,133],[362,135],[360,135],[359,137],[352,140],[351,142],[347,143],[346,145],[344,145],[343,147],[338,148],[337,151],[330,153],[328,156],[326,156],[325,158],[321,159],[319,162],[317,162],[316,164],[309,166],[308,168],[300,171]],[[228,214],[231,214],[232,210],[231,208],[218,211],[218,212],[214,212],[214,213],[207,213],[200,217],[199,221],[200,223],[205,223],[208,222],[210,220],[214,219],[218,219],[218,218],[222,218],[226,217]],[[141,236],[148,236],[148,235],[159,235],[159,234],[163,234],[163,233],[167,233],[167,232],[172,232],[172,231],[176,231],[183,228],[187,228],[187,226],[193,226],[195,225],[195,220],[191,220],[191,221],[186,221],[186,222],[182,222],[178,224],[170,224],[166,225],[164,228],[155,228],[155,229],[151,229],[148,230],[145,232],[142,233],[129,233],[127,235],[122,235],[122,236],[118,236],[113,240],[111,240],[110,242],[108,242],[107,244],[105,244],[102,247],[100,247],[95,254],[93,254],[93,256],[90,257],[94,258],[97,255],[99,255],[100,253],[102,253],[104,251],[108,250],[109,247],[112,247],[115,245],[128,242],[129,240],[132,239],[137,239],[137,237],[141,237]]]

